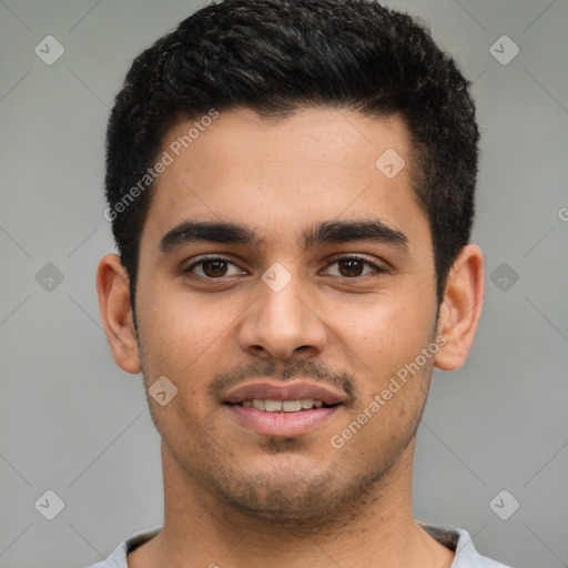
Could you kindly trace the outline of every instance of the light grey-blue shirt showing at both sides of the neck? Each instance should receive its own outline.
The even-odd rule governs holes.
[[[466,530],[444,525],[426,525],[423,523],[419,525],[439,544],[456,551],[452,568],[510,568],[485,556],[480,556]],[[138,532],[121,542],[106,560],[93,564],[89,568],[128,568],[126,555],[155,537],[161,529],[162,527],[154,527]]]

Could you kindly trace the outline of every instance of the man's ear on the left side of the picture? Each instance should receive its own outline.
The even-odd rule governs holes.
[[[101,258],[97,271],[97,292],[104,332],[116,365],[126,373],[140,373],[129,277],[116,254]]]

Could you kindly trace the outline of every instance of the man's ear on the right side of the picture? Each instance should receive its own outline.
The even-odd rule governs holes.
[[[438,336],[445,338],[435,365],[443,371],[459,368],[466,361],[481,315],[484,254],[468,244],[462,248],[446,282],[438,318]]]

